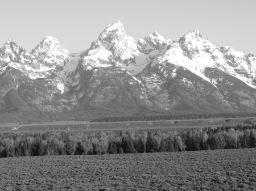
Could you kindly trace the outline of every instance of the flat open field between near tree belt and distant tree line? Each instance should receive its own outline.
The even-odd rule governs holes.
[[[216,118],[201,120],[168,120],[168,121],[129,121],[129,122],[52,122],[46,124],[2,124],[0,132],[45,131],[45,130],[147,130],[147,129],[187,129],[204,128],[206,126],[222,126],[237,124],[252,124],[255,118]]]

